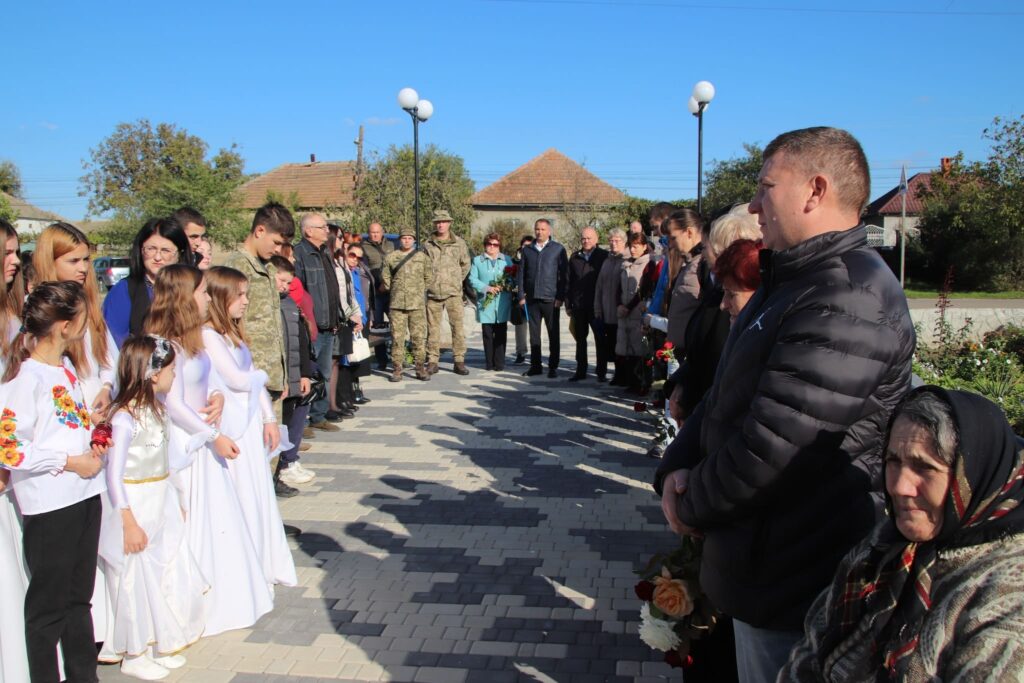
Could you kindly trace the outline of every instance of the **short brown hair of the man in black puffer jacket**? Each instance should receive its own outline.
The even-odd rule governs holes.
[[[871,174],[867,157],[853,135],[841,128],[815,126],[782,133],[765,147],[768,161],[783,153],[808,175],[831,178],[840,205],[859,215],[867,205]]]

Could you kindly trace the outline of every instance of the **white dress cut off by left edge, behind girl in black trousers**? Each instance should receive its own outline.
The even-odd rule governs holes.
[[[7,339],[19,325],[11,318]],[[4,362],[0,357],[0,374]],[[0,681],[28,681],[25,649],[25,591],[29,573],[22,546],[22,513],[10,483],[0,494]]]

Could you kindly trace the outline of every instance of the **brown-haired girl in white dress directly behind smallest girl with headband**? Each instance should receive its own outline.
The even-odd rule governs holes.
[[[201,328],[209,302],[199,269],[165,266],[157,275],[145,331],[175,344],[174,382],[164,396],[171,423],[168,458],[172,484],[185,510],[188,548],[211,587],[204,635],[212,636],[255,624],[273,608],[273,593],[227,471],[239,447],[200,416],[206,412],[208,419],[219,421],[223,400],[211,402],[216,392],[203,348]]]

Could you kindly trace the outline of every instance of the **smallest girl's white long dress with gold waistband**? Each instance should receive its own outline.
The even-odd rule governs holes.
[[[109,645],[119,655],[145,654],[151,647],[172,654],[203,635],[209,586],[188,550],[178,497],[168,479],[166,424],[151,410],[139,411],[137,418],[122,411],[111,420],[114,446],[106,456],[99,535],[113,605]],[[121,519],[126,508],[147,540],[144,550],[127,555]]]

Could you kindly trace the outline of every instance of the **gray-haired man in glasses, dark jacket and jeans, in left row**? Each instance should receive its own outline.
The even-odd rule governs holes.
[[[318,213],[307,213],[299,221],[302,240],[295,245],[295,276],[309,292],[313,300],[313,316],[316,318],[316,367],[326,378],[331,377],[334,339],[340,324],[341,296],[338,279],[334,272],[334,260],[327,253],[327,219]],[[331,405],[327,398],[313,401],[309,407],[309,426],[324,431],[338,431],[336,425],[328,421]],[[332,414],[330,417],[337,417]]]

